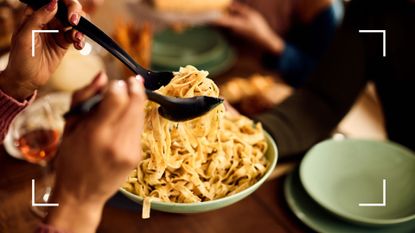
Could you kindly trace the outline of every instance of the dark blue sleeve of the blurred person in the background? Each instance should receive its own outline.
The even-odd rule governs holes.
[[[325,8],[307,24],[307,40],[299,46],[297,41],[287,39],[284,48],[276,53],[269,50],[263,57],[264,64],[277,71],[287,83],[294,87],[302,86],[327,51],[336,30],[336,19],[331,6]],[[296,38],[298,40],[298,38]]]

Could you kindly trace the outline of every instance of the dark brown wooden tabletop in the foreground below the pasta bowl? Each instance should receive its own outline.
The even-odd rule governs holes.
[[[0,232],[33,232],[41,220],[30,210],[31,180],[41,180],[40,168],[8,156],[1,148],[0,170]],[[152,211],[151,218],[143,220],[138,205],[136,211],[106,206],[98,232],[309,232],[287,207],[284,178],[267,181],[239,203],[202,214]]]

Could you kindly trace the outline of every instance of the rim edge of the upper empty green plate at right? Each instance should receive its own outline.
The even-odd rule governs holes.
[[[404,223],[404,222],[408,222],[411,220],[415,219],[415,214],[409,215],[407,217],[402,217],[402,218],[396,218],[396,219],[376,219],[376,218],[368,218],[368,217],[356,217],[353,216],[352,214],[347,214],[347,213],[343,213],[342,211],[338,211],[335,208],[332,208],[330,206],[327,206],[323,203],[323,201],[321,201],[318,198],[318,195],[316,195],[315,193],[313,193],[313,191],[310,190],[310,187],[307,187],[307,182],[305,181],[305,165],[307,163],[307,161],[310,160],[311,157],[311,151],[315,150],[315,148],[319,145],[322,144],[326,144],[326,143],[332,143],[332,142],[342,142],[342,141],[351,141],[351,142],[364,142],[364,143],[372,143],[372,144],[382,144],[385,146],[389,146],[389,147],[393,147],[397,150],[400,150],[403,152],[403,154],[405,154],[404,156],[407,156],[410,159],[414,159],[415,160],[415,156],[411,155],[414,154],[413,151],[411,151],[410,149],[404,147],[403,145],[397,144],[395,142],[392,141],[377,141],[377,140],[370,140],[370,139],[353,139],[353,138],[347,138],[347,139],[342,139],[342,140],[336,140],[336,139],[328,139],[328,140],[324,140],[320,143],[317,143],[316,145],[314,145],[304,156],[303,160],[300,163],[300,180],[301,180],[301,184],[303,185],[304,189],[306,190],[307,194],[310,195],[310,197],[316,202],[318,203],[321,207],[323,207],[325,210],[329,211],[330,213],[333,213],[335,215],[337,215],[338,217],[349,221],[349,222],[353,222],[353,223],[360,223],[363,225],[393,225],[393,224],[399,224],[399,223]]]

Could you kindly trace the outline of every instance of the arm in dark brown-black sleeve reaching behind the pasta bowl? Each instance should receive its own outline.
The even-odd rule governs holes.
[[[329,136],[366,83],[367,52],[359,29],[368,26],[368,16],[353,3],[307,86],[256,117],[276,140],[282,157],[301,154]]]

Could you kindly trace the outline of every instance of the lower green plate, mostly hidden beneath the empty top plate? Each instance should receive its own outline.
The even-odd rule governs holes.
[[[308,227],[321,233],[412,233],[415,221],[393,226],[361,226],[336,218],[317,204],[301,185],[298,171],[290,174],[284,184],[284,193],[289,208]]]

